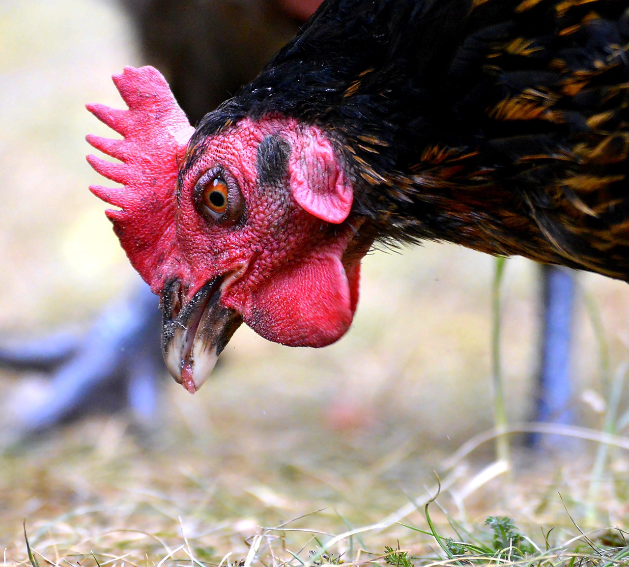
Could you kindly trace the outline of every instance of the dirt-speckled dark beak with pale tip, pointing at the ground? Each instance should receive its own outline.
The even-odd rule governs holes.
[[[164,361],[172,377],[191,394],[208,379],[218,355],[242,323],[240,313],[221,304],[224,283],[220,277],[209,280],[186,305],[178,280],[164,287]]]

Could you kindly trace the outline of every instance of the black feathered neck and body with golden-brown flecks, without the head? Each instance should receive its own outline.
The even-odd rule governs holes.
[[[328,1],[192,145],[318,124],[364,238],[629,278],[629,15],[617,0]]]

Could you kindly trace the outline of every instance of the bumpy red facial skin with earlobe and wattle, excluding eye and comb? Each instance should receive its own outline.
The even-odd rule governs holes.
[[[257,147],[278,133],[291,146],[288,175],[281,187],[260,187]],[[176,212],[188,297],[212,277],[238,272],[221,302],[263,337],[325,346],[343,336],[358,300],[360,258],[343,265],[355,228],[343,223],[352,192],[336,160],[320,129],[287,118],[243,119],[209,139],[184,179]],[[235,226],[213,223],[194,206],[196,182],[217,166],[231,173],[245,201]]]

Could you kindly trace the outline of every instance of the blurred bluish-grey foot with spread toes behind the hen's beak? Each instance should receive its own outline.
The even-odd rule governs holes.
[[[14,395],[9,411],[18,433],[43,431],[87,412],[120,410],[126,404],[136,421],[150,421],[165,375],[160,319],[157,297],[142,283],[126,301],[106,306],[81,338],[53,335],[14,350],[4,348],[0,365],[53,370],[38,399]]]

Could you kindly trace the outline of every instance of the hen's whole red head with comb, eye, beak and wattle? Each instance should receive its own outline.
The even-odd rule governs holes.
[[[91,187],[133,266],[160,295],[170,372],[194,392],[240,323],[289,346],[347,331],[359,295],[352,183],[325,133],[296,119],[240,119],[198,139],[162,75],[126,68],[127,111],[88,106],[123,140],[88,136],[123,163],[88,160],[121,189]]]

